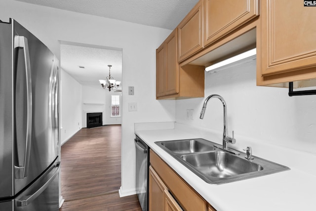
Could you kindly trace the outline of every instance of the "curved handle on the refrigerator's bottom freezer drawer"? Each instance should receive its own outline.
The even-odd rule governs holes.
[[[54,168],[55,168],[55,172],[52,174],[52,176],[35,193],[33,193],[32,195],[26,195],[25,198],[23,199],[16,199],[17,207],[28,206],[30,203],[32,203],[33,200],[35,200],[37,197],[40,196],[40,194],[50,185],[50,183],[58,175],[59,169],[60,169],[60,162],[55,163],[52,166],[52,169]]]

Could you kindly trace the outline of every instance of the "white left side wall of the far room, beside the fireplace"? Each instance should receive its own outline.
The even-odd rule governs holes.
[[[82,85],[61,69],[61,144],[82,127]]]

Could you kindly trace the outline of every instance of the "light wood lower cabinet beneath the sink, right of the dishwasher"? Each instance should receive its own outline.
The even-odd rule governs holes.
[[[216,211],[152,150],[150,165],[149,211]]]

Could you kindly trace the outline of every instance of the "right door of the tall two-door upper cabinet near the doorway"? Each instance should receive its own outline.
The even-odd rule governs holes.
[[[176,94],[179,92],[179,65],[177,55],[177,29],[175,29],[165,40],[165,94]]]

